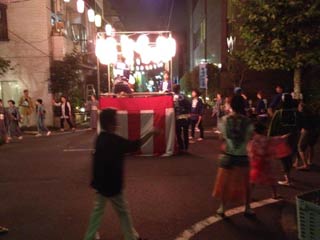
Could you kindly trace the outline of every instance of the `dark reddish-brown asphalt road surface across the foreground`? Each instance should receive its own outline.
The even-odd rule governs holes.
[[[0,239],[82,239],[94,199],[89,187],[94,138],[90,131],[26,136],[21,142],[0,147],[0,225],[10,228]],[[218,202],[211,192],[219,144],[210,133],[203,142],[192,144],[189,154],[127,159],[126,195],[141,236],[174,240],[214,215]],[[295,172],[294,178],[294,188],[279,188],[285,200],[257,208],[257,219],[237,214],[190,239],[296,239],[294,199],[300,192],[319,188],[319,168]],[[254,193],[257,201],[270,196],[270,189],[263,187]],[[111,207],[100,233],[102,240],[122,239]]]

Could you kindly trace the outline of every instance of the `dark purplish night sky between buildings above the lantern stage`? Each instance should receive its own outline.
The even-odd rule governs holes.
[[[173,14],[169,30],[185,32],[188,26],[187,0],[109,0],[128,31],[168,30],[172,2]]]

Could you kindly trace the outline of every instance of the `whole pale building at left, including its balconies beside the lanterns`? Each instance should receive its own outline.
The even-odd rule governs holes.
[[[34,100],[43,99],[52,124],[50,64],[74,48],[92,52],[98,29],[89,8],[104,14],[103,0],[86,1],[83,14],[76,0],[0,0],[0,56],[14,68],[0,77],[0,98],[18,101],[28,89]]]

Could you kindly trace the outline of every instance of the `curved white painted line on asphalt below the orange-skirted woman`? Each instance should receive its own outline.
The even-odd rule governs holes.
[[[269,204],[273,204],[276,202],[279,202],[280,200],[277,199],[273,199],[273,198],[269,198],[269,199],[264,199],[261,200],[259,202],[254,202],[251,204],[251,208],[259,208],[265,205],[269,205]],[[244,206],[241,207],[236,207],[233,209],[230,209],[228,211],[226,211],[226,216],[227,217],[231,217],[234,215],[237,215],[241,212],[244,211]],[[183,231],[177,238],[175,238],[175,240],[189,240],[192,237],[194,237],[195,235],[197,235],[199,232],[201,232],[203,229],[205,229],[206,227],[221,221],[222,218],[219,216],[210,216],[204,220],[201,220],[199,222],[197,222],[196,224],[192,225],[189,229]]]

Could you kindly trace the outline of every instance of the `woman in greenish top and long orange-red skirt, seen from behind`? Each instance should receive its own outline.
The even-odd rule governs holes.
[[[254,127],[248,117],[243,115],[245,100],[234,96],[231,100],[232,113],[223,117],[221,133],[224,138],[224,153],[219,159],[219,168],[213,190],[213,197],[221,201],[217,214],[225,216],[227,203],[243,200],[244,214],[253,216],[250,207],[249,160],[247,144]]]

